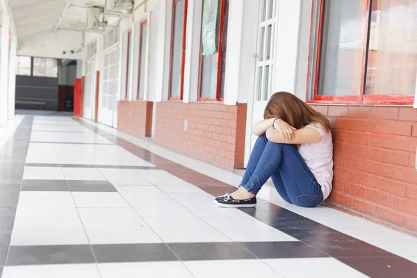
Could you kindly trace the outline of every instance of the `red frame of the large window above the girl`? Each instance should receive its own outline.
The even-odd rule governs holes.
[[[371,13],[371,0],[366,1],[366,28],[363,42],[363,54],[362,54],[362,70],[361,70],[361,91],[359,95],[354,96],[320,96],[318,93],[318,79],[320,70],[320,54],[321,54],[321,42],[322,42],[322,25],[324,17],[325,0],[314,0],[311,8],[311,26],[310,26],[310,44],[312,38],[312,25],[313,25],[313,10],[316,3],[320,1],[320,18],[318,22],[318,40],[317,40],[317,56],[315,67],[315,78],[313,83],[314,97],[313,100],[307,100],[309,103],[338,103],[338,104],[413,104],[414,95],[365,95],[366,92],[366,66],[368,63],[368,42],[369,42],[369,29],[370,29],[370,13]],[[311,49],[309,47],[309,49]],[[310,63],[310,59],[308,64]],[[310,67],[308,65],[308,71]],[[307,72],[307,83],[309,82],[309,74]],[[309,99],[309,88],[306,89],[306,99]]]

